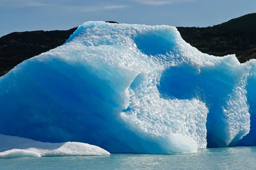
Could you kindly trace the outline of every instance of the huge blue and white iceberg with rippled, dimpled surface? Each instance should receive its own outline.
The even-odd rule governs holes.
[[[250,130],[254,65],[203,54],[172,26],[87,22],[0,78],[0,133],[119,153],[236,145]]]

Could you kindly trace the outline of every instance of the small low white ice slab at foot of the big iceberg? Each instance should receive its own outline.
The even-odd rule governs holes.
[[[95,155],[110,155],[110,153],[100,147],[79,142],[44,143],[0,135],[0,158]]]

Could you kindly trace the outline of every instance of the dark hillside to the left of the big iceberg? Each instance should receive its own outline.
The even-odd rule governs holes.
[[[20,62],[62,45],[76,31],[13,32],[0,38],[0,76]]]

